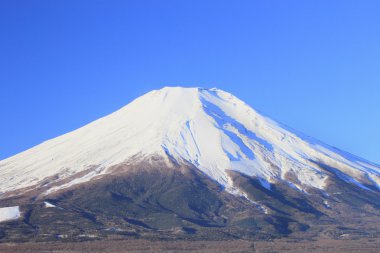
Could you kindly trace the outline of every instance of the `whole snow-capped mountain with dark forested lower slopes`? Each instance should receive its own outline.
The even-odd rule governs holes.
[[[378,165],[215,88],[151,91],[2,160],[0,192],[3,241],[380,232]]]

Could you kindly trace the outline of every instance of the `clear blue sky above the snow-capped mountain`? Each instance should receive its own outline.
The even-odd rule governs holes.
[[[0,159],[162,86],[380,163],[380,1],[0,2]]]

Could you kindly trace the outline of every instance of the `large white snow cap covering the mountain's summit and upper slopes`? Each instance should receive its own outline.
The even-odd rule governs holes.
[[[293,187],[323,190],[327,167],[349,183],[380,188],[379,166],[282,126],[227,92],[166,87],[0,161],[0,192],[86,171],[68,187],[151,155],[191,163],[230,192],[236,189],[228,170],[256,176],[267,188],[291,173]]]

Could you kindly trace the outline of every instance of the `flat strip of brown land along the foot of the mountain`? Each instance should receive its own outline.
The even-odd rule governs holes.
[[[315,241],[147,241],[107,240],[80,243],[20,243],[0,244],[1,253],[118,253],[118,252],[307,252],[307,253],[379,253],[380,239]]]

